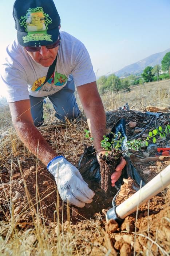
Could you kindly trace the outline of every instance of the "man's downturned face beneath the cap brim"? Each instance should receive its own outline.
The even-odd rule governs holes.
[[[50,67],[58,54],[59,46],[53,49],[47,49],[46,46],[41,46],[38,52],[28,52],[29,56],[43,67]]]

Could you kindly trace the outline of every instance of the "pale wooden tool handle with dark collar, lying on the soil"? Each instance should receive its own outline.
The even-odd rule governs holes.
[[[109,222],[111,219],[114,219],[121,225],[124,218],[132,214],[138,207],[157,195],[168,185],[170,185],[170,165],[149,181],[143,188],[134,193],[134,195],[119,204],[119,206],[115,206],[108,210],[106,221]]]

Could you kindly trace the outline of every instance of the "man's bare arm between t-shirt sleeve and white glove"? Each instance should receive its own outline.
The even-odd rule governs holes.
[[[9,103],[12,122],[24,145],[47,166],[58,154],[33,124],[29,99]],[[38,153],[37,153],[38,147]]]

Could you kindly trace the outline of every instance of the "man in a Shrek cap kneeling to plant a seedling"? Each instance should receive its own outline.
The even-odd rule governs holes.
[[[17,40],[7,47],[2,74],[13,124],[24,145],[54,175],[62,199],[83,207],[92,202],[94,192],[79,170],[48,145],[36,126],[43,123],[43,100],[47,96],[60,120],[79,115],[75,82],[98,159],[104,154],[100,141],[106,134],[106,118],[90,56],[78,39],[59,33],[60,17],[52,0],[16,0],[13,17]],[[54,72],[47,80],[48,69],[55,61]],[[112,174],[112,186],[125,164],[122,159]]]

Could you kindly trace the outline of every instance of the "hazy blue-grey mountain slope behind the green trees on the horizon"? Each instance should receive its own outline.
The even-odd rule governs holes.
[[[127,74],[140,74],[143,72],[143,69],[145,69],[147,66],[152,67],[157,64],[161,64],[161,61],[167,52],[170,52],[170,48],[165,50],[164,52],[158,52],[158,53],[152,54],[143,60],[130,64],[120,69],[119,71],[115,72],[115,75],[120,77],[120,76],[126,76]]]

